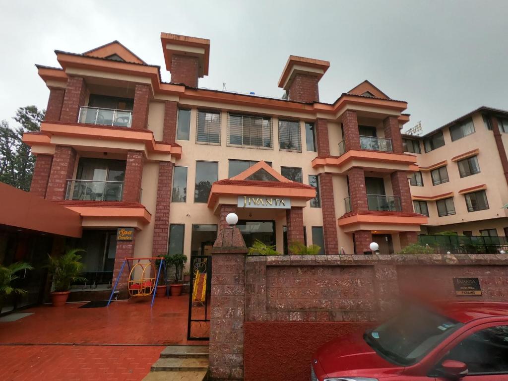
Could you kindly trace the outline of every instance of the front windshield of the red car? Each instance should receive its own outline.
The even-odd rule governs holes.
[[[412,305],[385,324],[366,331],[363,338],[390,362],[411,365],[420,361],[462,325],[448,317]]]

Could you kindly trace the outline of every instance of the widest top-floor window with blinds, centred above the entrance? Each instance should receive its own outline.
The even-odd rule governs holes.
[[[228,145],[273,148],[272,118],[228,114]]]

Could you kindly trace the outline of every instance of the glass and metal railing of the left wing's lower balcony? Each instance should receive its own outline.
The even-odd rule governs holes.
[[[67,180],[66,200],[121,201],[123,181]]]

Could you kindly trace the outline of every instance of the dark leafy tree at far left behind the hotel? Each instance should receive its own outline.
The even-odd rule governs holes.
[[[19,123],[11,128],[6,120],[0,122],[0,181],[23,190],[30,189],[34,173],[35,156],[22,142],[25,132],[40,131],[45,110],[36,106],[20,107],[14,120]]]

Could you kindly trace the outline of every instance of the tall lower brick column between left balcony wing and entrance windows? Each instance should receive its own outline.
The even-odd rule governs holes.
[[[157,203],[153,228],[152,256],[162,257],[168,252],[169,212],[171,206],[171,182],[173,163],[159,163]]]

